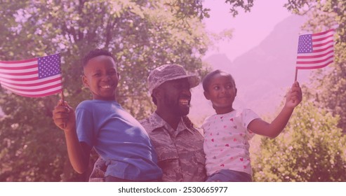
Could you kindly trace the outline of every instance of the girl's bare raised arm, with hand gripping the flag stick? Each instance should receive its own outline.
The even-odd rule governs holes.
[[[248,129],[256,134],[261,134],[266,137],[277,137],[284,127],[286,127],[288,120],[291,118],[295,106],[298,106],[302,101],[302,90],[298,82],[293,83],[291,90],[286,94],[286,103],[277,118],[272,123],[267,123],[264,120],[255,119],[248,124]]]

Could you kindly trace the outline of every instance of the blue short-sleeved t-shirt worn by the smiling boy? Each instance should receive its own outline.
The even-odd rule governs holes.
[[[76,132],[106,160],[105,176],[132,181],[161,179],[147,132],[115,101],[87,100],[76,108]]]

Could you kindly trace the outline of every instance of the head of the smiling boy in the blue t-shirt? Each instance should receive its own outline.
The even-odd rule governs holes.
[[[93,57],[84,66],[83,83],[93,94],[93,99],[115,100],[119,73],[112,57]]]

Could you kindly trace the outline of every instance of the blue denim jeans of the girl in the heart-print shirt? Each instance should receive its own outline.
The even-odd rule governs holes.
[[[251,182],[252,176],[245,172],[237,172],[229,169],[221,169],[211,176],[208,176],[206,182]]]

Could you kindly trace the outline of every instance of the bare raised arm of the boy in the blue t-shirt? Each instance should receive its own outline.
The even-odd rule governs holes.
[[[65,102],[59,102],[53,110],[53,121],[57,127],[64,130],[69,161],[76,172],[82,174],[88,168],[91,147],[79,142],[76,134],[76,117],[74,110]]]

